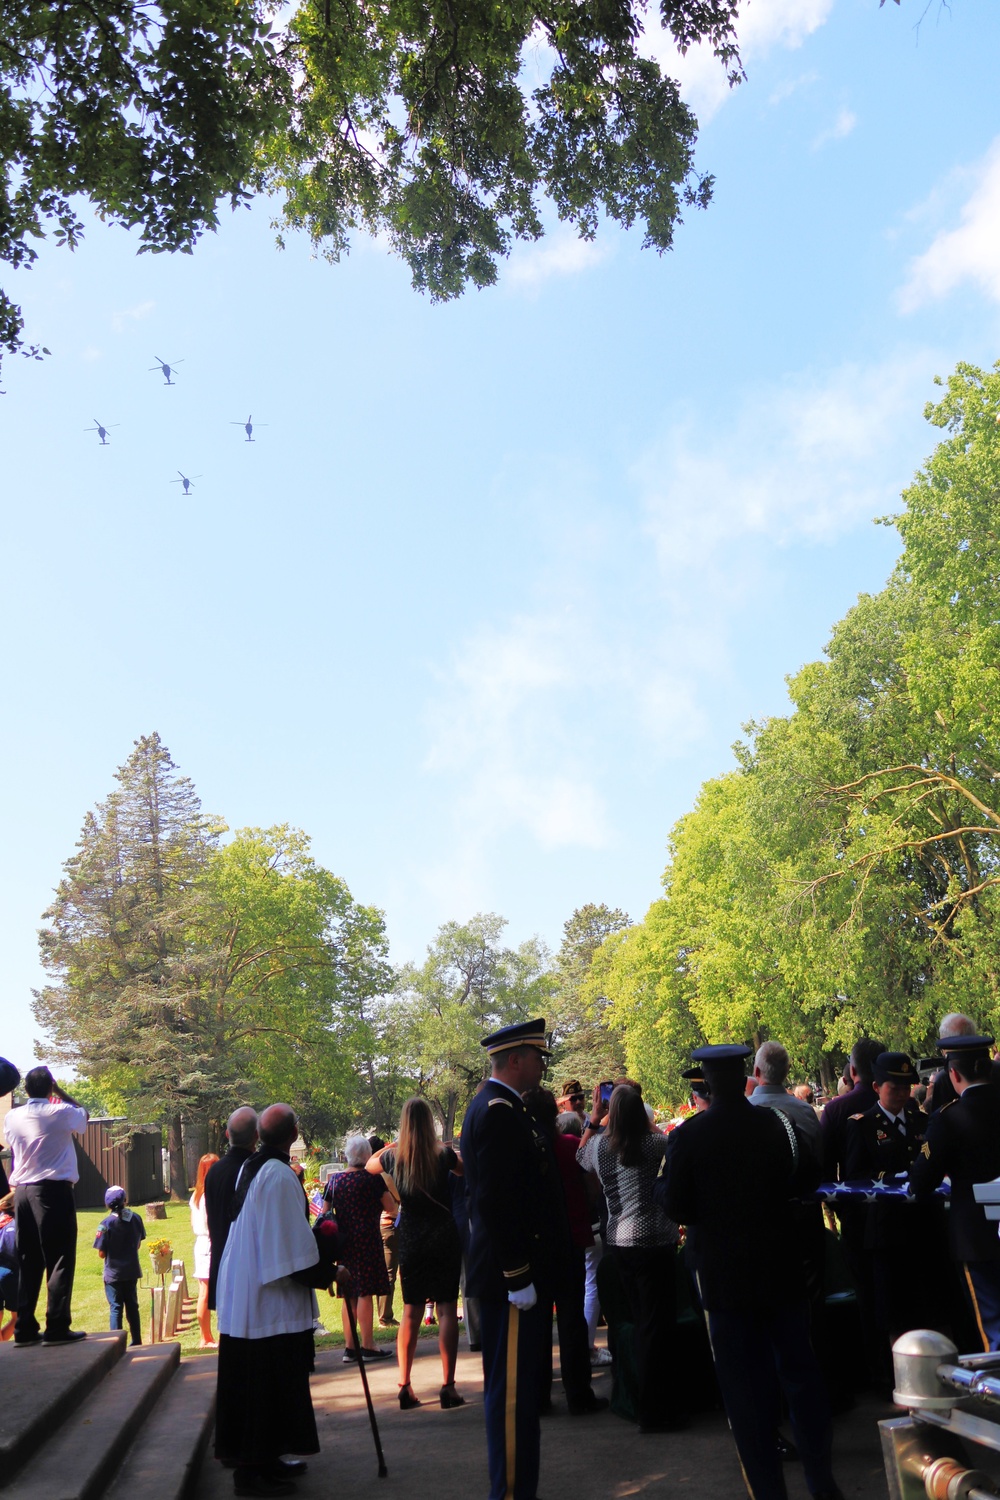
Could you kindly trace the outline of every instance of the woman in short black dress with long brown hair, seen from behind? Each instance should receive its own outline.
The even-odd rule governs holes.
[[[463,1406],[454,1389],[454,1364],[459,1353],[459,1276],[462,1240],[451,1216],[448,1174],[462,1173],[462,1160],[442,1146],[426,1100],[408,1100],[399,1120],[399,1140],[378,1152],[367,1164],[372,1173],[387,1172],[400,1198],[399,1280],[403,1286],[403,1317],[396,1338],[399,1360],[399,1404],[403,1412],[421,1402],[412,1392],[409,1374],[420,1336],[420,1320],[427,1302],[438,1304],[438,1344],[441,1348],[441,1406]]]

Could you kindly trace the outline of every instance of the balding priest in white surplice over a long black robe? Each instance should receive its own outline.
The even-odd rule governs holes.
[[[288,1158],[297,1134],[286,1104],[261,1114],[261,1150],[240,1173],[219,1268],[216,1458],[232,1466],[238,1496],[291,1494],[306,1464],[282,1455],[319,1452],[309,1394],[316,1294],[295,1280],[319,1250]]]

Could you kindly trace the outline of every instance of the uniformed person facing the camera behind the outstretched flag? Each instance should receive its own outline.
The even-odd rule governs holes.
[[[844,1132],[844,1179],[895,1186],[865,1212],[865,1252],[871,1257],[874,1320],[879,1332],[876,1378],[892,1368],[892,1341],[910,1328],[948,1322],[945,1226],[940,1204],[916,1204],[907,1174],[924,1146],[927,1116],[910,1098],[918,1082],[904,1052],[883,1052],[874,1064],[876,1101],[852,1114]]]

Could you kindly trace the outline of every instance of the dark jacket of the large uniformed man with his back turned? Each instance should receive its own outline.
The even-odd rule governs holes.
[[[816,1184],[801,1184],[814,1186]],[[688,1258],[709,1311],[805,1296],[793,1216],[792,1144],[775,1110],[715,1100],[670,1134],[654,1196],[687,1226]]]

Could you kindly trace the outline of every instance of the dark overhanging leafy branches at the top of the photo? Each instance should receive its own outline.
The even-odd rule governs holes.
[[[607,216],[666,250],[711,198],[639,0],[301,0],[283,30],[277,9],[0,0],[0,264],[30,266],[46,234],[75,246],[82,201],[141,250],[190,250],[264,189],[333,260],[355,230],[385,234],[447,298],[538,238],[546,201],[585,237]],[[735,0],[661,0],[660,18],[741,76]],[[0,292],[4,348],[37,352]]]

